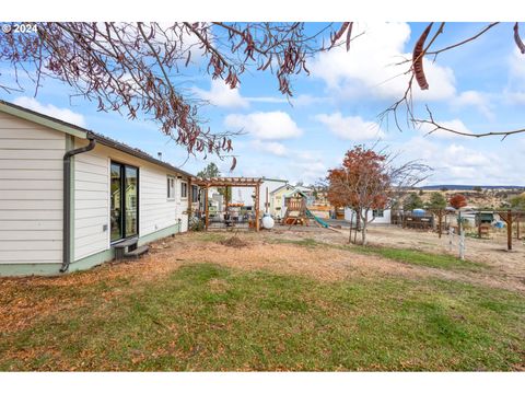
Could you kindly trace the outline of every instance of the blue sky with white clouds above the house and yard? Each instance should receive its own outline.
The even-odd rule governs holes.
[[[421,160],[434,169],[422,184],[525,185],[525,134],[501,141],[475,139],[446,132],[428,135],[401,123],[380,124],[378,115],[404,93],[407,65],[415,42],[427,24],[358,23],[350,51],[334,48],[308,59],[310,76],[293,78],[293,97],[288,101],[269,72],[249,69],[238,89],[230,90],[206,72],[206,61],[195,60],[185,70],[185,86],[209,101],[201,115],[212,130],[243,130],[234,139],[237,166],[231,161],[190,157],[163,136],[149,120],[130,120],[118,113],[101,113],[96,103],[70,97],[71,89],[47,79],[34,97],[34,86],[24,92],[0,92],[0,97],[92,129],[197,173],[210,161],[223,175],[266,176],[292,183],[313,184],[340,165],[345,152],[355,144],[376,146],[398,153],[398,161]],[[447,23],[434,43],[441,48],[471,36],[483,23]],[[322,24],[307,24],[315,32]],[[513,25],[502,23],[480,38],[455,50],[425,60],[430,89],[415,86],[416,112],[424,105],[444,126],[485,132],[525,127],[525,55],[513,40]],[[197,57],[198,58],[198,57]],[[9,65],[0,63],[0,81],[9,78]],[[390,118],[392,120],[392,118]]]

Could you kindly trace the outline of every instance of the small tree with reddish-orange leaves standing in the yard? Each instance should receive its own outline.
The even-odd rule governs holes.
[[[372,209],[385,209],[399,192],[424,179],[430,167],[410,161],[399,166],[397,155],[375,152],[364,146],[349,150],[342,165],[328,171],[328,199],[355,211],[362,224],[361,243],[366,245],[366,228]],[[351,240],[351,236],[350,236]]]

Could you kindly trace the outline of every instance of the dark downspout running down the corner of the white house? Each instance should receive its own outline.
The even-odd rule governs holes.
[[[95,139],[88,135],[90,143],[82,148],[67,151],[63,155],[63,181],[62,181],[62,266],[60,273],[66,273],[71,263],[71,158],[75,154],[91,151],[95,148]]]

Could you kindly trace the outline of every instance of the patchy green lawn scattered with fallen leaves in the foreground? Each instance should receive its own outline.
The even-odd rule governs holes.
[[[0,370],[525,368],[525,297],[458,281],[322,282],[194,264],[153,282],[16,293],[82,304],[0,333]]]

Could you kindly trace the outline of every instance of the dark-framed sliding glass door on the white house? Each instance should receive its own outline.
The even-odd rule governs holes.
[[[112,242],[139,233],[139,169],[112,162]]]

